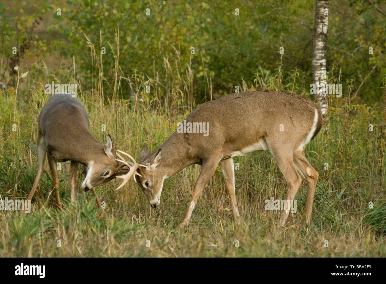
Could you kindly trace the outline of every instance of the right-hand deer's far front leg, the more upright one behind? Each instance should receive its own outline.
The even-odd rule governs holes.
[[[227,187],[229,193],[230,203],[232,204],[233,218],[236,220],[237,224],[240,225],[241,218],[236,201],[235,168],[233,164],[233,158],[221,160],[219,165],[224,176],[225,187]]]

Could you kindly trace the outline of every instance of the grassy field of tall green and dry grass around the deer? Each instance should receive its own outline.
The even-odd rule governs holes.
[[[169,71],[174,76],[173,90],[183,90],[175,94],[189,97],[189,72],[184,77]],[[117,78],[117,82],[127,79]],[[261,80],[267,88],[277,86],[274,75]],[[100,82],[97,76],[95,82]],[[191,99],[182,104],[184,99],[178,95],[168,97],[156,79],[128,82],[133,94],[129,100],[117,99],[120,84],[113,88],[111,100],[100,94],[97,83],[92,92],[78,92],[78,97],[98,141],[111,134],[117,149],[139,158],[142,145],[159,146],[197,104]],[[143,91],[147,84],[155,90],[152,94]],[[294,92],[305,95],[304,90]],[[37,116],[48,97],[34,88],[21,97],[12,87],[0,95],[3,199],[26,199],[29,194],[37,170]],[[76,203],[71,204],[67,162],[59,171],[62,211],[55,209],[48,174],[32,199],[31,213],[0,211],[0,257],[384,257],[385,109],[347,102],[331,99],[327,122],[306,148],[309,162],[319,172],[310,226],[303,215],[305,182],[296,196],[297,212],[284,228],[276,226],[279,211],[264,209],[264,200],[283,199],[286,188],[269,153],[234,158],[239,163],[235,178],[241,226],[232,219],[218,168],[183,230],[177,225],[190,201],[198,165],[165,180],[157,209],[149,206],[132,180],[118,191],[114,189],[120,180],[98,187],[106,204],[104,219],[96,217],[92,194],[81,191],[80,174]],[[16,131],[12,131],[14,124]]]

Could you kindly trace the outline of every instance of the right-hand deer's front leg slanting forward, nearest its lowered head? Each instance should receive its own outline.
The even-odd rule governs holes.
[[[213,173],[217,168],[219,160],[220,160],[220,157],[215,157],[215,158],[205,159],[202,161],[201,171],[194,185],[193,194],[192,194],[192,198],[190,200],[188,209],[186,209],[184,219],[178,225],[180,228],[183,228],[184,226],[189,224],[190,216],[196,205],[198,196],[200,196],[202,190],[208,184],[210,178],[212,177]]]

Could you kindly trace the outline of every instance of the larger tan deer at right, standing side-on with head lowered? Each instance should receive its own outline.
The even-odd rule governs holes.
[[[205,123],[206,134],[201,131]],[[189,165],[202,165],[191,202],[179,225],[183,227],[189,223],[198,196],[219,164],[234,219],[240,223],[232,157],[269,150],[287,181],[286,200],[293,202],[300,187],[301,177],[297,171],[305,178],[308,185],[305,213],[309,222],[318,172],[308,163],[304,148],[322,124],[320,107],[303,96],[271,90],[231,94],[201,104],[184,121],[183,133],[177,129],[152,153],[144,146],[139,162],[147,168],[135,164],[132,169],[137,170],[136,182],[151,206],[156,208],[165,179]],[[133,170],[120,176],[125,179],[120,187],[129,180]],[[281,212],[279,226],[285,224],[288,214],[289,208]]]

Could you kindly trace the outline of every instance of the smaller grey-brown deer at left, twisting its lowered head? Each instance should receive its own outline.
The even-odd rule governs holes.
[[[95,139],[90,132],[90,122],[85,108],[76,97],[70,94],[57,94],[50,97],[39,114],[38,126],[38,169],[28,199],[32,199],[43,173],[47,171],[44,163],[47,154],[56,205],[62,206],[56,164],[70,160],[71,201],[75,202],[76,172],[78,165],[82,164],[83,173],[87,172],[82,183],[83,190],[91,189],[98,207],[101,208],[94,187],[114,179],[117,174],[127,173],[127,169],[124,170],[125,164],[116,160],[117,154],[110,135],[107,135],[104,145]],[[104,213],[103,209],[102,213]]]

